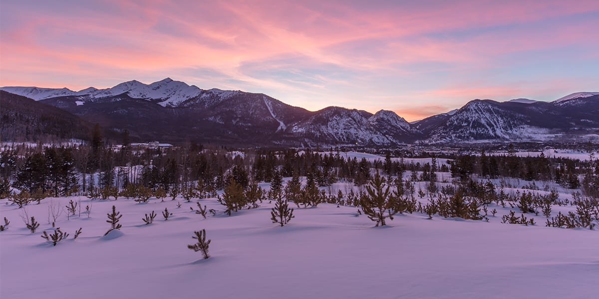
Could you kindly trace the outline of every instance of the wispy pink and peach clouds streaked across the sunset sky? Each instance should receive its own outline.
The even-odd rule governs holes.
[[[434,90],[422,96],[464,100],[485,94],[530,93],[525,84],[507,88],[484,81],[466,84],[482,86],[478,88],[459,85],[464,74],[502,66],[505,62],[498,58],[506,54],[582,43],[597,49],[599,40],[597,30],[589,30],[599,26],[597,20],[588,18],[565,25],[550,22],[597,13],[597,1],[348,3],[100,1],[59,3],[52,10],[38,9],[39,5],[20,7],[16,2],[3,4],[2,17],[10,14],[18,22],[0,29],[0,85],[67,85],[78,89],[95,84],[98,77],[114,78],[116,84],[148,74],[155,74],[157,80],[166,75],[176,77],[164,74],[173,69],[206,68],[256,91],[262,88],[297,100],[321,97],[317,103],[325,105],[322,99],[346,98],[354,103],[370,92],[364,88],[364,94],[344,93],[328,89],[330,86],[376,85],[376,81],[368,80],[379,80],[380,74],[410,78],[423,72],[412,65],[437,62],[443,64],[442,71],[452,75],[441,78],[431,87]],[[543,28],[521,26],[541,21],[547,22]],[[483,31],[477,33],[479,29]],[[462,32],[470,33],[460,35]],[[596,59],[597,51],[592,53],[589,50],[586,57]],[[248,63],[283,69],[268,65],[274,57],[307,57],[299,68],[337,66],[353,72],[354,80],[364,82],[319,73],[308,75],[319,83],[273,80],[243,70]],[[193,76],[180,76],[180,80],[196,83]],[[243,88],[226,80],[214,84]],[[391,89],[382,93],[403,99],[397,93],[418,92]],[[308,105],[322,108],[317,103]]]

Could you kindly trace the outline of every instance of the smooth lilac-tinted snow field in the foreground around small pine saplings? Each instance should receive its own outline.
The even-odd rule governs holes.
[[[343,188],[337,185],[338,188]],[[52,200],[81,200],[80,216],[57,226],[71,234],[56,247],[50,233]],[[222,214],[216,199],[199,200],[216,216],[204,219],[192,203],[140,204],[86,197],[45,199],[26,206],[41,222],[32,234],[23,209],[0,201],[11,223],[0,233],[0,298],[594,298],[599,277],[597,231],[490,221],[398,215],[374,227],[357,208],[321,204],[295,209],[289,225],[270,221],[272,204]],[[84,207],[92,212],[84,213]],[[111,206],[122,213],[121,233],[103,237]],[[291,204],[292,205],[292,204]],[[173,216],[164,221],[161,211]],[[489,207],[493,208],[493,207]],[[569,210],[568,208],[559,208]],[[141,218],[155,210],[153,224]],[[74,231],[83,228],[78,239]],[[211,258],[186,248],[205,228]]]

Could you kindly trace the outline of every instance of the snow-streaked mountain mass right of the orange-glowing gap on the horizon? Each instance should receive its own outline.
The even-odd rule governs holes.
[[[576,102],[573,102],[576,101]],[[576,105],[570,105],[576,103]],[[599,132],[599,95],[561,102],[473,100],[455,115],[424,128],[428,142],[556,141]],[[435,115],[431,118],[440,118]],[[431,120],[429,120],[430,122]],[[421,122],[416,124],[421,125]]]

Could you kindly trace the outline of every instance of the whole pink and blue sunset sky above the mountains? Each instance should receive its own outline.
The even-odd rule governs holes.
[[[408,121],[599,90],[599,1],[0,2],[0,86],[166,77]]]

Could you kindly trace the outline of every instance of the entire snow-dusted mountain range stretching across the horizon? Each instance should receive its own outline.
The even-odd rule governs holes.
[[[13,120],[16,112],[6,112],[19,108],[9,108],[5,99],[14,102],[17,95],[23,101],[37,101],[37,111],[45,106],[59,108],[85,124],[99,123],[111,132],[126,129],[137,141],[302,147],[586,141],[599,137],[598,92],[573,93],[553,102],[472,100],[460,109],[408,123],[393,111],[371,114],[335,106],[308,111],[261,93],[204,90],[170,78],[152,84],[127,81],[109,89],[0,90],[2,128],[14,123],[11,132],[20,132],[14,127],[22,124]],[[6,132],[3,141],[14,138]]]

